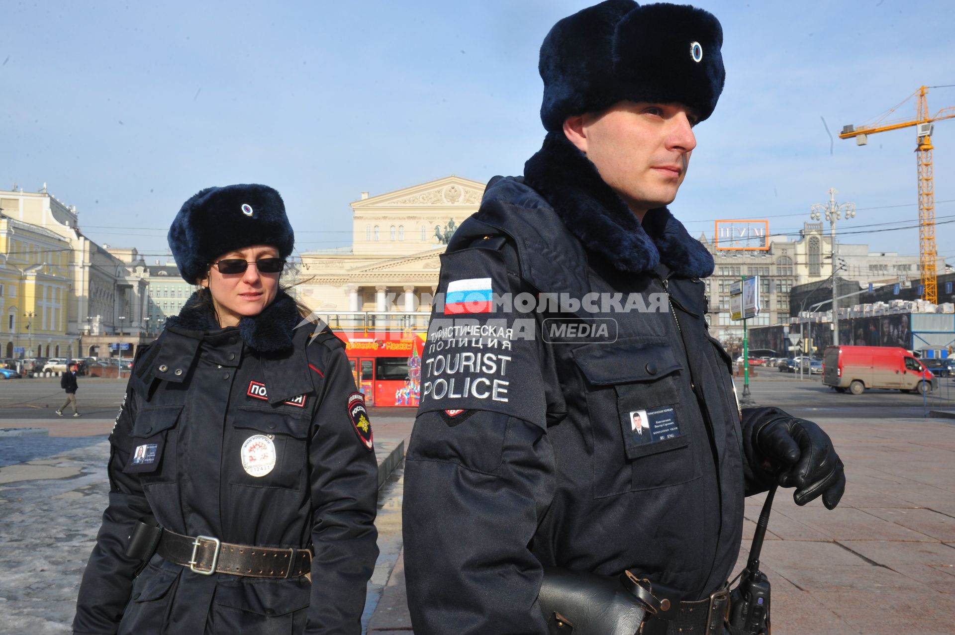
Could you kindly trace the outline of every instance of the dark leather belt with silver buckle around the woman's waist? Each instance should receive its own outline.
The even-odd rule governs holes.
[[[209,536],[182,536],[162,529],[156,553],[167,561],[211,576],[294,578],[311,572],[311,550],[232,544]]]

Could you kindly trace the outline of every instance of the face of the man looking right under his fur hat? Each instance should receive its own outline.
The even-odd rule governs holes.
[[[567,119],[565,134],[576,118]],[[580,136],[568,138],[642,217],[642,211],[676,198],[696,147],[695,122],[692,110],[681,104],[621,101],[603,113],[581,116]]]

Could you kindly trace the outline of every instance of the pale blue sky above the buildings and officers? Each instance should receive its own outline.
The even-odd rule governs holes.
[[[47,182],[97,242],[156,258],[193,193],[263,182],[299,250],[346,244],[362,191],[520,174],[543,138],[541,39],[587,4],[7,0],[0,188]],[[840,233],[917,221],[914,130],[831,144],[822,119],[835,136],[955,84],[949,0],[697,6],[723,24],[727,84],[670,206],[692,233],[721,218],[794,231],[829,187],[859,206]],[[955,88],[932,90],[930,110],[945,106]],[[899,111],[914,114],[914,99]],[[955,219],[955,119],[933,141],[936,213]],[[953,237],[938,226],[955,259]],[[916,229],[842,242],[918,253]]]

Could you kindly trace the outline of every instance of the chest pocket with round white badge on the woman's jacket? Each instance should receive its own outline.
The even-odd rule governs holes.
[[[301,491],[310,420],[254,406],[240,407],[231,419],[223,457],[229,482]]]

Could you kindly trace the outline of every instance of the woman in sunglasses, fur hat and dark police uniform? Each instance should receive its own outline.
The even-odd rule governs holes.
[[[74,633],[361,631],[371,428],[341,342],[296,328],[293,241],[264,185],[180,209],[169,244],[201,288],[138,354]]]

